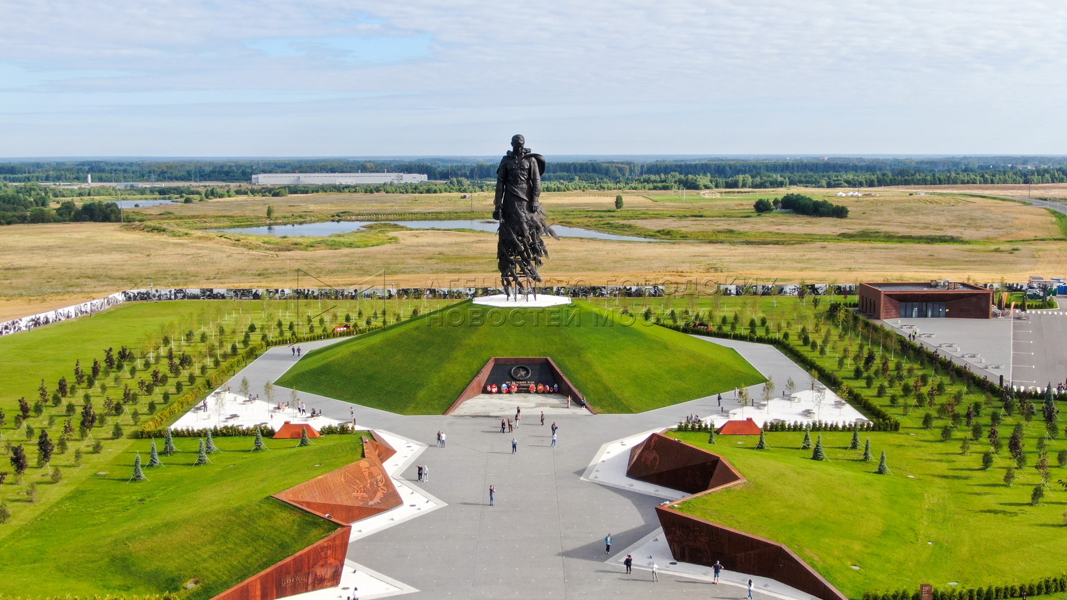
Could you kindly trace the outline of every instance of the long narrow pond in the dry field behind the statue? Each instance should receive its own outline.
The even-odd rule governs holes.
[[[255,233],[257,236],[333,236],[334,233],[348,233],[350,231],[362,231],[367,225],[372,223],[393,223],[411,229],[474,229],[476,231],[487,231],[496,233],[496,222],[484,220],[457,218],[450,221],[327,221],[322,223],[296,223],[292,225],[265,225],[260,227],[230,227],[228,229],[210,229],[210,231],[221,231],[225,233]],[[617,242],[669,242],[670,240],[654,240],[651,238],[637,238],[635,236],[617,236],[615,233],[604,233],[582,227],[568,227],[566,225],[554,225],[553,229],[560,238],[588,238],[593,240],[612,240]]]

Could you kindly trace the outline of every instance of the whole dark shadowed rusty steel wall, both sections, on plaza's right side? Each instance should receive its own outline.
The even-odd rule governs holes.
[[[746,481],[718,454],[662,434],[652,434],[630,451],[626,475],[692,493],[679,502]],[[708,567],[720,561],[727,569],[770,578],[822,600],[847,600],[785,546],[680,513],[676,505],[656,507],[676,561]]]

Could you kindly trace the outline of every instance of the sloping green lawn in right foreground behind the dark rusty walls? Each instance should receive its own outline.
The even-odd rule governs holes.
[[[1044,424],[1034,422],[1026,433],[1031,467],[1018,470],[1013,487],[1003,483],[1012,461],[1006,449],[982,470],[987,447],[964,456],[959,436],[941,442],[925,429],[862,435],[871,439],[873,463],[861,461],[861,451],[845,450],[849,433],[822,434],[829,461],[799,450],[802,433],[767,434],[766,451],[754,450],[758,438],[751,436],[718,436],[710,445],[706,434],[671,435],[726,456],[749,480],[685,502],[684,512],[781,541],[846,596],[859,598],[920,583],[965,588],[1063,572],[1067,491],[1054,482],[1067,470],[1053,466],[1049,496],[1031,506],[1031,490],[1040,482],[1033,449]],[[1057,448],[1063,442],[1053,441],[1053,465]],[[882,450],[891,475],[874,473]]]

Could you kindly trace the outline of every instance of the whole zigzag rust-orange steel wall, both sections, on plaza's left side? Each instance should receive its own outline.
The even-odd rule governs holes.
[[[382,460],[396,454],[396,450],[366,436],[363,449],[363,459],[274,494],[283,502],[336,523],[339,529],[211,600],[276,600],[340,585],[352,532],[347,523],[403,503],[393,481],[381,468]],[[286,494],[291,498],[283,498]],[[337,502],[329,502],[334,500]],[[363,516],[345,520],[353,515]]]

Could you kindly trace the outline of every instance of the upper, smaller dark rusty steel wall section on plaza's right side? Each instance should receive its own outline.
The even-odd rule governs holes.
[[[689,493],[745,481],[721,456],[660,434],[631,449],[626,476]]]

